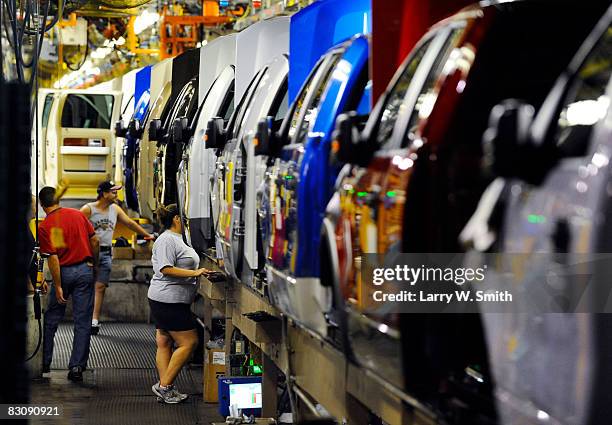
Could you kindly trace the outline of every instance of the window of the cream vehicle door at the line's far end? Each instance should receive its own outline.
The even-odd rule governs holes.
[[[111,128],[115,97],[109,94],[69,94],[62,110],[62,127]]]

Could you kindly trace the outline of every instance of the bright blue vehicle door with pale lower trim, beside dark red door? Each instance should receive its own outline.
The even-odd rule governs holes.
[[[317,220],[320,228],[338,172],[328,159],[332,126],[338,114],[357,107],[364,97],[367,58],[367,36],[357,36],[331,49],[320,62],[298,94],[299,113],[292,111],[286,118],[290,122],[284,126],[290,131],[283,137],[290,144],[268,169],[261,192],[270,203],[260,207],[270,296],[281,311],[322,334],[329,289],[317,284],[318,270],[298,269],[296,258],[300,249],[313,255],[318,251],[311,244],[320,231],[311,232]]]

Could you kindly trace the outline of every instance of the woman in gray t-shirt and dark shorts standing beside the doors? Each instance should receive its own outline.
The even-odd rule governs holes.
[[[159,382],[153,392],[166,403],[180,403],[187,396],[174,387],[174,380],[198,345],[196,323],[191,313],[198,277],[208,273],[198,268],[198,254],[183,242],[182,222],[176,204],[161,207],[158,217],[166,231],[153,244],[153,271],[148,298],[157,327],[155,362]],[[173,344],[177,348],[172,351]]]

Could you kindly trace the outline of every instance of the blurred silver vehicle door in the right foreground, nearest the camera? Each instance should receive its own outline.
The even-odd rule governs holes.
[[[579,143],[584,151],[563,155],[539,184],[513,178],[495,180],[481,199],[472,218],[475,221],[464,230],[466,241],[470,234],[474,238],[476,224],[482,229],[489,227],[481,223],[479,214],[484,210],[483,217],[487,217],[490,208],[503,205],[503,221],[492,229],[492,245],[479,247],[479,251],[499,253],[497,267],[487,274],[494,282],[492,287],[499,287],[503,282],[500,276],[511,273],[513,283],[525,288],[516,292],[512,303],[504,305],[503,313],[483,314],[503,424],[540,423],[541,412],[546,412],[550,422],[562,424],[602,423],[610,416],[610,378],[606,372],[612,329],[609,314],[524,311],[534,302],[529,295],[541,286],[541,276],[551,264],[583,264],[581,273],[599,276],[594,279],[603,277],[600,287],[609,287],[609,274],[602,276],[593,259],[612,250],[611,22],[612,8],[559,77],[531,125],[536,144]],[[592,109],[584,115],[579,111],[586,105]],[[495,191],[495,201],[485,207],[487,195]],[[563,227],[567,232],[565,246],[563,238],[556,236]],[[513,270],[509,256],[504,255],[517,253],[523,258],[521,273]],[[559,259],[558,253],[566,253],[561,254],[566,259]],[[557,288],[569,293],[577,286],[577,278],[562,277]],[[593,280],[589,283],[595,286]],[[591,306],[599,303],[598,297],[581,299],[586,306],[582,311],[591,311]],[[546,373],[549,370],[558,372],[550,375]]]

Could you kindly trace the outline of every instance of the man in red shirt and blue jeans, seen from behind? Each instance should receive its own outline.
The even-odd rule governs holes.
[[[68,379],[82,381],[89,358],[99,242],[93,226],[82,212],[60,207],[54,188],[42,188],[38,197],[47,214],[38,228],[40,251],[49,254],[47,262],[53,277],[45,312],[43,373],[50,370],[55,332],[64,318],[66,302],[72,297],[74,340]]]

